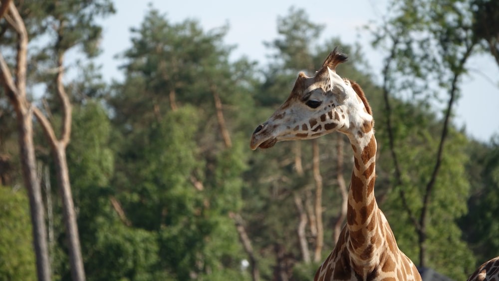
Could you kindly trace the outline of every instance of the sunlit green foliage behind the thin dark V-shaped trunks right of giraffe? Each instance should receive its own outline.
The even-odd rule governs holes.
[[[388,194],[388,199],[382,207],[399,247],[413,261],[417,261],[419,255],[417,230],[408,216],[408,211],[405,210],[406,207],[402,204],[400,191],[405,194],[407,208],[419,218],[427,182],[435,165],[436,147],[440,140],[438,132],[441,128],[434,115],[421,111],[410,103],[394,102],[393,107],[396,108],[392,112],[395,121],[393,124],[395,151],[403,182]],[[388,146],[383,127],[378,126],[377,135],[381,137],[379,141],[382,147]],[[456,224],[456,221],[468,211],[465,202],[469,196],[470,184],[466,177],[465,165],[469,156],[464,153],[467,145],[464,135],[451,132],[441,164],[441,171],[445,172],[438,174],[430,195],[428,214],[431,218],[425,232],[428,255],[426,267],[456,280],[465,279],[470,272],[473,272],[475,265],[475,258],[462,240],[462,232]],[[406,149],[408,146],[411,149]],[[378,170],[378,174],[381,175],[393,169],[388,160],[389,155],[383,157],[385,160],[380,165],[382,170]],[[394,180],[394,177],[387,180]],[[452,267],[449,267],[449,264],[452,264]]]

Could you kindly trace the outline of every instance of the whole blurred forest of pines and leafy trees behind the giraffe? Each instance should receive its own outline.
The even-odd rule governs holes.
[[[475,94],[471,58],[499,67],[499,3],[389,6],[366,26],[381,82],[359,44],[317,40],[306,9],[277,17],[262,62],[231,56],[229,24],[154,6],[108,82],[95,58],[112,1],[2,1],[0,280],[310,280],[344,225],[349,146],[248,144],[337,45],[350,58],[338,73],[373,107],[376,196],[399,247],[465,280],[499,255],[499,137],[470,137],[455,107]]]

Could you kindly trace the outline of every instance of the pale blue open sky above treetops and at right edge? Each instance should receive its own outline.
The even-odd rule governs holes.
[[[270,52],[263,42],[277,37],[277,17],[287,15],[291,6],[302,8],[312,22],[325,25],[319,42],[332,37],[339,37],[346,44],[358,42],[372,66],[370,71],[381,79],[382,58],[386,53],[370,46],[371,37],[362,27],[382,19],[386,0],[116,0],[114,4],[116,14],[102,20],[103,53],[98,62],[102,64],[106,81],[123,78],[118,69],[123,61],[115,56],[131,46],[130,28],[140,26],[150,4],[166,14],[170,22],[196,19],[205,31],[228,23],[230,29],[225,43],[236,45],[231,58],[245,55],[260,65],[266,63]],[[472,74],[463,79],[455,124],[459,128],[464,126],[473,138],[488,142],[499,134],[499,66],[489,55],[473,57],[468,66]]]

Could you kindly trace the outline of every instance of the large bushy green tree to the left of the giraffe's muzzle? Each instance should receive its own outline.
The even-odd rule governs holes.
[[[151,8],[131,31],[125,80],[107,97],[117,128],[116,199],[131,226],[156,235],[158,270],[174,279],[241,279],[244,252],[230,215],[240,214],[248,152],[246,136],[233,132],[249,118],[253,64],[229,62],[227,26],[204,31]]]

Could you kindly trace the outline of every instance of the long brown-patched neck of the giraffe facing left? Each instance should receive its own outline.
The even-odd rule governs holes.
[[[354,152],[354,168],[348,194],[346,247],[353,264],[362,269],[376,265],[382,244],[378,205],[374,197],[376,139],[372,127],[349,135]]]

